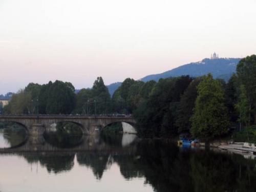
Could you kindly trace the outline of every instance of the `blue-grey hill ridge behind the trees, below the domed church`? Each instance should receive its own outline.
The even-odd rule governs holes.
[[[214,78],[221,78],[228,81],[231,75],[236,73],[236,68],[240,60],[241,58],[205,58],[202,61],[191,62],[163,73],[147,75],[139,80],[144,82],[150,80],[158,81],[160,78],[178,77],[181,75],[198,77],[211,73]],[[115,82],[107,86],[110,94],[113,95],[120,85],[121,82]]]

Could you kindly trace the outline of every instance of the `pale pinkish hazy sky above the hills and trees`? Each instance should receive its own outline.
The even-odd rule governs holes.
[[[0,94],[91,87],[256,53],[255,0],[0,0]]]

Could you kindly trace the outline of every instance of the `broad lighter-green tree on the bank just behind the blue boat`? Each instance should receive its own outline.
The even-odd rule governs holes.
[[[211,74],[203,76],[197,86],[198,96],[195,111],[191,116],[191,134],[193,137],[209,139],[227,132],[229,126],[224,90]]]

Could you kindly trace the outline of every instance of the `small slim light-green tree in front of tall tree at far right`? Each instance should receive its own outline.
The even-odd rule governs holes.
[[[242,84],[240,86],[240,94],[238,98],[238,103],[234,105],[234,107],[237,109],[239,113],[238,121],[242,124],[245,124],[245,126],[249,125],[250,119],[249,119],[249,102],[246,94],[246,90],[244,85]]]

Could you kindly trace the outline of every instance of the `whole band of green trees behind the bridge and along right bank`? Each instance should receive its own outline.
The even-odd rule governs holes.
[[[212,138],[237,123],[241,127],[256,124],[255,74],[256,55],[251,55],[240,60],[237,73],[227,83],[211,74],[158,82],[126,78],[112,98],[101,77],[92,89],[77,94],[70,82],[29,83],[12,96],[4,112],[32,114],[38,109],[39,114],[133,114],[144,137],[190,133]]]

